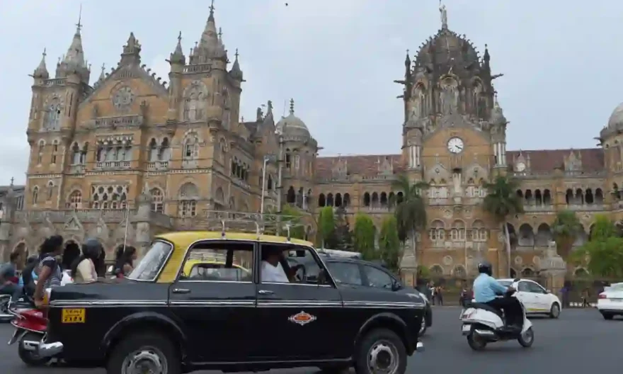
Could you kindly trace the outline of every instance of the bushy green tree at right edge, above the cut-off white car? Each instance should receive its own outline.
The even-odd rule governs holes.
[[[605,215],[595,217],[590,241],[570,255],[575,263],[583,263],[587,257],[591,274],[612,278],[623,276],[623,238],[618,237],[615,224]]]

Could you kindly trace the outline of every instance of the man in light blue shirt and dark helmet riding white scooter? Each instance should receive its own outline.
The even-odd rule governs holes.
[[[479,276],[474,280],[474,299],[480,304],[486,304],[494,307],[498,310],[503,310],[506,319],[507,328],[517,328],[519,312],[516,310],[516,300],[511,300],[509,297],[496,297],[498,294],[505,294],[509,290],[513,290],[512,287],[505,287],[501,285],[496,278],[491,276],[492,266],[488,261],[482,261],[478,264]]]

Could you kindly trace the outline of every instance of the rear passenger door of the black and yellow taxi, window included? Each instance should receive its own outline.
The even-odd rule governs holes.
[[[255,345],[254,242],[193,244],[168,293],[169,308],[187,339],[190,361],[249,361]],[[215,268],[215,265],[221,265]],[[205,266],[202,266],[205,265]]]

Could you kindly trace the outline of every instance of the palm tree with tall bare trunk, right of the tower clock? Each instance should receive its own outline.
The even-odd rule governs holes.
[[[510,275],[510,234],[508,232],[508,216],[523,212],[522,199],[517,195],[519,183],[506,176],[496,176],[493,182],[484,182],[487,190],[482,208],[489,212],[502,225],[506,254],[508,255],[508,274]]]

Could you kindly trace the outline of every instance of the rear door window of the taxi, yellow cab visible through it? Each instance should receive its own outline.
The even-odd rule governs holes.
[[[182,266],[180,280],[253,282],[253,244],[246,242],[200,242]]]

